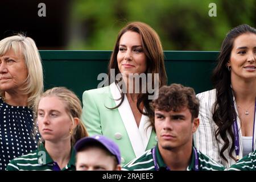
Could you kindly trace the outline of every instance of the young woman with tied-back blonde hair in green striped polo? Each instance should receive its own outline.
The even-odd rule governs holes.
[[[44,92],[35,108],[35,125],[42,137],[38,150],[11,160],[6,169],[75,170],[73,145],[88,136],[79,119],[82,113],[79,98],[71,90],[56,87]]]

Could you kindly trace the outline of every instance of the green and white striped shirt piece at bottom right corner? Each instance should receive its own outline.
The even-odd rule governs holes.
[[[228,171],[256,171],[256,150],[238,160]]]

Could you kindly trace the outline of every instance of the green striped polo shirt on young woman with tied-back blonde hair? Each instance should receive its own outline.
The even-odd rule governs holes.
[[[75,171],[75,162],[76,152],[72,147],[71,159],[63,169],[60,169],[49,156],[44,145],[41,144],[38,150],[11,160],[6,171]]]

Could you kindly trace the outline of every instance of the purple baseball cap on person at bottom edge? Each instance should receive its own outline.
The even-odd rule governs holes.
[[[106,147],[106,149],[117,158],[118,164],[121,164],[121,153],[119,151],[119,147],[117,146],[117,144],[115,144],[113,140],[110,140],[109,138],[106,138],[103,135],[94,135],[92,137],[81,138],[76,142],[75,150],[79,151],[81,150],[81,148],[86,147],[87,144],[94,142],[100,143],[104,147]]]

